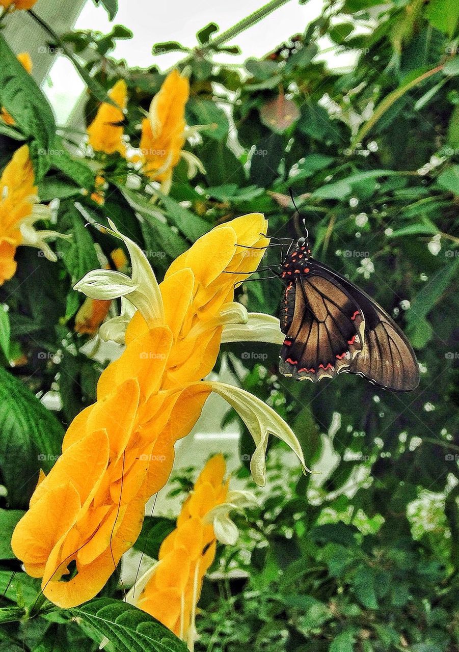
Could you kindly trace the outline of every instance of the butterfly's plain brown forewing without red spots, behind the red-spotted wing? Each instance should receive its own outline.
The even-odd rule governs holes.
[[[321,273],[340,284],[361,308],[364,346],[349,364],[347,372],[361,374],[384,389],[406,392],[419,385],[419,364],[411,344],[393,319],[372,297],[323,263],[311,261]]]

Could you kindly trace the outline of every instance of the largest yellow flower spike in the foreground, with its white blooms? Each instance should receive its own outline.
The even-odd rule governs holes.
[[[286,441],[304,466],[295,435],[272,408],[243,389],[201,381],[215,364],[225,328],[250,321],[233,302],[235,276],[227,272],[241,272],[241,280],[258,265],[263,250],[245,247],[269,242],[260,235],[267,226],[263,216],[246,215],[207,233],[171,265],[161,286],[140,248],[110,226],[128,248],[132,276],[96,270],[75,288],[93,299],[123,297],[131,304],[136,312],[126,348],[100,376],[96,403],[70,424],[61,458],[48,477],[40,477],[12,537],[26,571],[41,577],[44,595],[63,608],[94,597],[132,546],[145,503],[168,480],[175,442],[193,428],[212,391],[251,430],[252,473],[259,484],[265,481],[269,433]],[[265,317],[266,329],[258,317],[260,338],[273,337],[276,319]],[[243,338],[241,330],[235,335]],[[211,522],[230,538],[227,514],[225,507]],[[64,581],[73,563],[76,574]]]

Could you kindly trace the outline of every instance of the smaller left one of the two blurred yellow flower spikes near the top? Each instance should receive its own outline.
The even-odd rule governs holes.
[[[123,111],[127,103],[127,87],[125,80],[118,80],[113,88],[108,91],[110,98],[117,104],[111,106],[107,102],[100,104],[96,117],[87,128],[89,145],[96,152],[113,154],[119,152],[126,155],[126,145],[123,142],[124,128],[121,123],[125,119]]]

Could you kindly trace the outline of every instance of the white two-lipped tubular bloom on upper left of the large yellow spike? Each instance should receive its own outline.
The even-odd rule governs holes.
[[[88,272],[74,285],[91,299],[117,299],[128,296],[149,325],[164,323],[164,306],[156,276],[141,248],[120,233],[115,224],[108,220],[111,230],[126,244],[132,265],[132,276],[111,269],[95,269]]]

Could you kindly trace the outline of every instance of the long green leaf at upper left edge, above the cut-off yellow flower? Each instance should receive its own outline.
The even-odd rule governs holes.
[[[0,106],[12,115],[29,145],[35,165],[35,175],[40,179],[48,170],[48,152],[55,141],[55,121],[50,105],[33,77],[11,52],[0,34]]]

